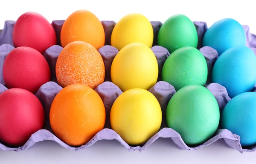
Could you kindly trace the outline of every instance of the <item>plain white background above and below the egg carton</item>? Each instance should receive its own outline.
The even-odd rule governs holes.
[[[253,0],[1,0],[0,29],[5,20],[17,20],[24,12],[38,12],[49,20],[66,19],[72,12],[87,9],[99,20],[118,21],[132,12],[162,23],[173,14],[185,14],[192,21],[215,21],[231,17],[256,33]],[[143,152],[128,152],[117,141],[99,141],[78,152],[66,150],[52,141],[35,144],[24,152],[0,151],[0,164],[252,164],[256,152],[240,154],[218,141],[200,150],[179,150],[171,139],[157,140]]]

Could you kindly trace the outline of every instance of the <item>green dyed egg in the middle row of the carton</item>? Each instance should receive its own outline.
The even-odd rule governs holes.
[[[192,84],[204,86],[207,75],[204,55],[194,47],[182,47],[172,52],[162,69],[162,80],[174,86],[176,91]]]

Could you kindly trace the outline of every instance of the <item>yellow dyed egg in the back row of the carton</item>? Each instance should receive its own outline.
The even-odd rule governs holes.
[[[142,14],[131,13],[116,23],[111,34],[111,46],[119,51],[130,43],[144,43],[152,47],[154,39],[153,27]]]

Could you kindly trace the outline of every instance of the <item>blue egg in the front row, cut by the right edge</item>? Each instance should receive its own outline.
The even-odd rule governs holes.
[[[256,144],[256,92],[232,98],[221,112],[220,124],[240,136],[241,146]]]

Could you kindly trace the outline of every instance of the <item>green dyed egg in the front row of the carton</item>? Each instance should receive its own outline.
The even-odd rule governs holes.
[[[170,99],[167,127],[178,132],[188,145],[207,141],[217,130],[220,112],[216,98],[201,85],[185,86]]]

